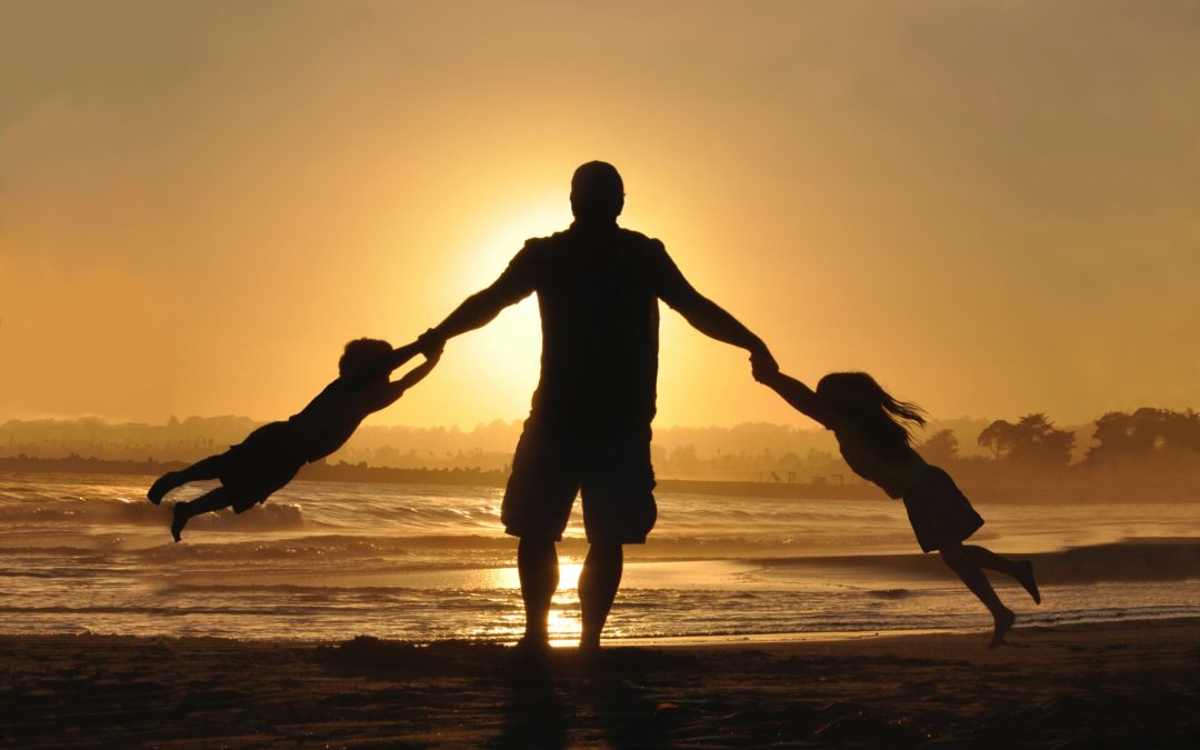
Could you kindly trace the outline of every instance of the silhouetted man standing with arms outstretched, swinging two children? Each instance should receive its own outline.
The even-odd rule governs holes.
[[[588,550],[580,575],[581,647],[600,631],[620,586],[623,550],[654,526],[650,421],[655,412],[659,306],[701,332],[774,366],[766,344],[696,292],[662,242],[617,226],[624,185],[612,164],[589,162],[571,179],[575,222],[532,239],[490,287],[421,336],[433,352],[458,334],[538,293],[541,379],[512,460],[502,520],[521,539],[517,568],[526,608],[524,646],[547,643],[558,588],[558,553],[576,492],[583,496]]]

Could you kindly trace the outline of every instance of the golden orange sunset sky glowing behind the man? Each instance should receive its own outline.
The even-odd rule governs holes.
[[[0,420],[280,419],[570,221],[937,418],[1200,407],[1200,4],[0,1]],[[518,419],[533,299],[374,424]],[[659,425],[805,425],[664,313]]]

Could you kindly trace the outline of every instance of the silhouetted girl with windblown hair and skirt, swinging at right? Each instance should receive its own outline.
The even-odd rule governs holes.
[[[1025,587],[1036,604],[1042,594],[1028,560],[1009,560],[985,547],[964,546],[983,518],[958,488],[950,475],[930,466],[912,449],[910,425],[924,425],[920,407],[896,401],[865,372],[834,372],[821,378],[812,391],[779,371],[756,372],[797,410],[832,430],[842,458],[851,469],[887,492],[904,498],[908,521],[924,552],[937,550],[971,593],[996,620],[990,647],[1004,641],[1016,616],[1001,604],[983,569],[998,570]]]

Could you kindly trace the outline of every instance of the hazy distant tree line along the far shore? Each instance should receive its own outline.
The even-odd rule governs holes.
[[[196,461],[238,443],[260,422],[244,416],[172,418],[164,425],[79,420],[10,420],[0,425],[0,456],[109,461]],[[474,430],[366,425],[330,463],[395,469],[505,473],[521,422]],[[934,421],[917,450],[967,484],[1012,478],[1105,472],[1200,475],[1200,414],[1141,408],[1110,412],[1075,428],[1045,413],[1008,420]],[[857,482],[827,431],[763,422],[734,427],[655,428],[652,446],[661,479]]]

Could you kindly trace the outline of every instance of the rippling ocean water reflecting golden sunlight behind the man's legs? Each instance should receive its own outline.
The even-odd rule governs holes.
[[[490,487],[295,481],[265,505],[194,518],[170,539],[154,478],[0,473],[0,631],[427,642],[515,641],[516,541]],[[986,610],[923,556],[904,506],[658,493],[626,547],[607,642],[990,631]],[[1200,504],[980,504],[973,541],[1030,556],[1043,604],[991,580],[1018,628],[1200,616]],[[587,551],[559,545],[552,638],[578,637]]]

